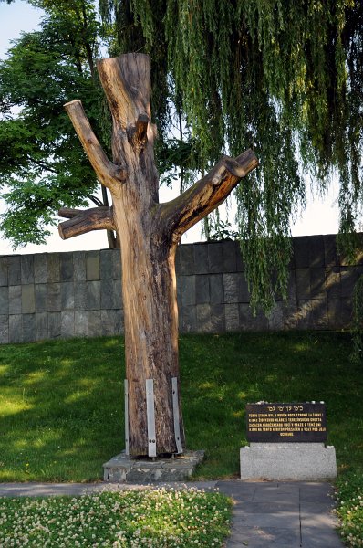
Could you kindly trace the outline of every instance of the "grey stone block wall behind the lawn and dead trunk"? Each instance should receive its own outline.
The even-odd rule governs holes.
[[[363,274],[337,257],[335,236],[295,237],[287,300],[253,316],[238,244],[182,245],[177,255],[181,332],[343,329]],[[119,251],[0,257],[0,343],[113,335],[123,330]]]

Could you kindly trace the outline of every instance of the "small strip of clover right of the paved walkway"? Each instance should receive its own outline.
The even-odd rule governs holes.
[[[350,473],[337,480],[337,516],[347,546],[363,546],[363,473]]]

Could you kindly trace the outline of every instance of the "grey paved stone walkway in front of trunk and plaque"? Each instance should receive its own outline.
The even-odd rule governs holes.
[[[181,486],[181,483],[170,484]],[[233,498],[232,534],[226,548],[342,548],[331,513],[332,487],[306,481],[198,481]],[[1,483],[0,496],[79,495],[95,490],[146,489],[111,483]]]

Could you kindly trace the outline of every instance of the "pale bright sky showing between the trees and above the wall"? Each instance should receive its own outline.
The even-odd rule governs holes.
[[[27,4],[26,1],[16,0],[13,4],[0,1],[0,59],[5,58],[6,51],[11,47],[10,41],[20,36],[22,31],[30,32],[36,29],[42,15],[41,10]],[[80,98],[81,99],[81,98]],[[1,123],[1,122],[0,122]],[[243,184],[243,182],[242,182]],[[177,186],[174,190],[161,188],[161,202],[173,199],[178,195]],[[308,192],[305,212],[300,212],[295,225],[291,227],[293,236],[308,236],[313,234],[335,234],[338,227],[337,213],[337,184],[332,184],[324,199]],[[0,199],[0,214],[5,211],[4,201]],[[233,207],[230,221],[233,220]],[[223,215],[222,215],[223,217]],[[184,243],[200,241],[200,223],[192,227],[183,237]],[[44,253],[53,251],[71,251],[86,249],[107,248],[107,237],[104,230],[93,231],[88,234],[71,238],[67,241],[58,236],[57,227],[52,229],[52,235],[47,238],[47,245],[27,245],[14,251],[9,242],[0,234],[0,255],[13,253]]]

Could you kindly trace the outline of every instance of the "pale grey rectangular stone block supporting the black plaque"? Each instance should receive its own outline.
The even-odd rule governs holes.
[[[332,479],[336,450],[324,443],[251,443],[241,448],[241,479]]]

